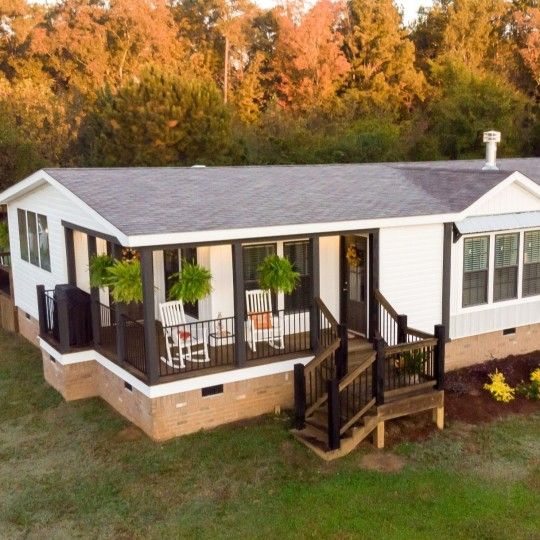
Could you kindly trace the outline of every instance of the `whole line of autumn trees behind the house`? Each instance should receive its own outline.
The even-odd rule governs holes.
[[[0,0],[0,183],[44,165],[540,152],[538,0]]]

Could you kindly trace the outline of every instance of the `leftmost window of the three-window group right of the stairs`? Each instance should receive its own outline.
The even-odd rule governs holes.
[[[487,302],[489,236],[466,238],[463,253],[463,307]]]

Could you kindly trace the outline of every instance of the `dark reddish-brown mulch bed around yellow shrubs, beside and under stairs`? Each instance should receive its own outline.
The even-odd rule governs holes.
[[[446,374],[444,385],[446,423],[481,424],[509,414],[540,412],[540,401],[516,395],[510,403],[499,403],[483,389],[484,384],[489,382],[488,374],[495,369],[504,373],[508,384],[515,387],[522,381],[528,381],[531,372],[537,367],[540,367],[540,351],[450,371]],[[393,420],[387,423],[386,446],[425,440],[435,430],[431,412]]]

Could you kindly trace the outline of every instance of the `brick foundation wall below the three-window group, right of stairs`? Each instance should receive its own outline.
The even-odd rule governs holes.
[[[519,326],[515,334],[489,332],[446,344],[446,370],[540,350],[540,324]]]

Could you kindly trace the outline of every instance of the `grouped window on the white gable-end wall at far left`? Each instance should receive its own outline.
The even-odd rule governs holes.
[[[47,217],[17,210],[21,259],[50,272],[49,227]]]

